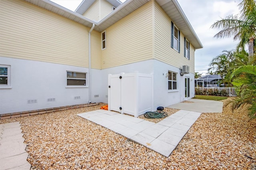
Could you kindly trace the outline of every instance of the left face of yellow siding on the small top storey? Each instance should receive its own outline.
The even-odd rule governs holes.
[[[96,0],[83,14],[84,17],[99,21],[100,20],[100,0]]]

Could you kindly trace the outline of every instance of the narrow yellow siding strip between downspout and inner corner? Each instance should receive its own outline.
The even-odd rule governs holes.
[[[100,33],[97,31],[91,32],[91,64],[93,69],[100,69]]]

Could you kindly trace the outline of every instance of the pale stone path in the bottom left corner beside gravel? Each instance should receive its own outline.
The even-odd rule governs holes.
[[[20,123],[0,124],[0,169],[30,170]]]

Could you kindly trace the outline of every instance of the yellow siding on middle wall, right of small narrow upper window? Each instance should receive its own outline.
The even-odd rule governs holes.
[[[106,29],[102,69],[152,59],[152,1]]]

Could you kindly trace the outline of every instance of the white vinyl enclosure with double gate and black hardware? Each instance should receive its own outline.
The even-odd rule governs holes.
[[[153,74],[109,74],[108,110],[134,117],[153,111]]]

